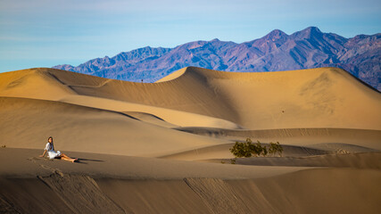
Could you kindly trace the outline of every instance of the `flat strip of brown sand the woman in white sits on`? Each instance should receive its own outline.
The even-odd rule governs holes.
[[[178,180],[184,177],[249,179],[273,177],[304,168],[213,164],[196,161],[173,161],[126,155],[62,151],[79,158],[79,163],[40,158],[41,150],[0,149],[0,173],[4,178],[48,177],[55,173],[87,175],[93,178]],[[12,168],[7,168],[12,160]]]

